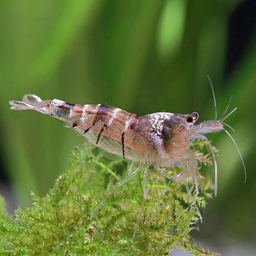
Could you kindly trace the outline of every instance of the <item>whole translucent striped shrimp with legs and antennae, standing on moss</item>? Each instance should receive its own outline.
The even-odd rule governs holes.
[[[210,83],[212,86],[211,80]],[[201,222],[202,215],[192,196],[193,190],[194,193],[198,193],[200,178],[198,160],[201,160],[199,156],[196,156],[190,150],[193,141],[202,139],[210,146],[215,164],[215,196],[217,195],[217,162],[212,145],[204,134],[224,130],[234,142],[244,165],[243,158],[234,139],[224,128],[224,125],[227,124],[223,123],[236,108],[227,116],[223,117],[226,114],[227,107],[220,119],[217,120],[217,108],[213,86],[212,93],[215,106],[215,119],[204,121],[197,125],[195,125],[195,122],[199,117],[197,112],[188,115],[158,112],[139,116],[128,113],[120,108],[114,108],[103,104],[79,105],[56,99],[41,100],[34,94],[26,94],[22,101],[11,100],[9,103],[12,106],[11,109],[34,109],[43,114],[49,114],[65,121],[66,127],[71,127],[78,135],[84,136],[92,147],[100,148],[101,153],[111,159],[116,159],[115,156],[117,156],[126,161],[132,160],[138,162],[137,169],[131,174],[129,173],[123,180],[117,182],[105,198],[92,211],[91,219],[94,213],[116,190],[116,188],[132,179],[141,171],[143,165],[145,165],[143,175],[143,201],[133,233],[134,237],[147,199],[146,181],[150,164],[153,164],[156,170],[167,179],[182,182],[185,185],[187,195],[194,204]],[[227,126],[230,127],[229,125]],[[182,172],[176,176],[170,175],[161,170],[159,166],[181,166]],[[188,180],[192,181],[190,188],[185,177],[188,177]]]

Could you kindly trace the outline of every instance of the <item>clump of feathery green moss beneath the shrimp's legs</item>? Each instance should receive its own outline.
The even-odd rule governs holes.
[[[182,184],[150,169],[148,200],[133,238],[143,172],[119,187],[90,220],[104,193],[127,175],[130,165],[92,156],[86,148],[76,148],[71,158],[70,167],[49,193],[40,198],[31,192],[31,205],[18,208],[12,220],[4,213],[1,198],[1,255],[165,255],[175,246],[195,255],[212,255],[190,241],[189,232],[198,217]],[[207,157],[205,161],[209,161]],[[166,169],[172,174],[180,172],[178,168]],[[194,196],[200,208],[210,196],[209,184],[201,179],[201,196]]]

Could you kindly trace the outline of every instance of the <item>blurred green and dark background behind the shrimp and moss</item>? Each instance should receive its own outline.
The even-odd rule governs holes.
[[[226,120],[209,134],[219,149],[218,196],[193,237],[225,255],[256,244],[256,3],[222,1],[1,1],[1,193],[7,210],[44,196],[84,140],[36,111],[11,111],[26,93],[70,103],[108,104],[145,115],[167,111]],[[203,167],[202,173],[214,167]],[[231,254],[232,252],[232,254]],[[237,253],[237,254],[236,254]],[[245,253],[246,254],[246,253]],[[247,254],[249,255],[249,254]],[[252,254],[253,255],[253,254]]]

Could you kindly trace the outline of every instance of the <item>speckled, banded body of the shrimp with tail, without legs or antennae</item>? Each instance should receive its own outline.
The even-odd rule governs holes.
[[[141,163],[170,166],[188,150],[191,127],[198,118],[192,115],[153,113],[139,116],[120,108],[98,104],[70,104],[62,100],[41,100],[27,94],[21,101],[10,101],[12,109],[34,109],[66,122],[93,146]]]

